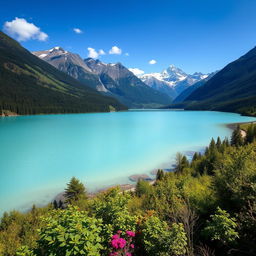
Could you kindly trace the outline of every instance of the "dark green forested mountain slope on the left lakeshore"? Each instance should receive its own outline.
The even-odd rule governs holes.
[[[125,107],[40,60],[0,31],[2,115],[107,112]]]

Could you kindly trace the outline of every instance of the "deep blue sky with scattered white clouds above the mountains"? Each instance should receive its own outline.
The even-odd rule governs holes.
[[[30,51],[208,73],[255,46],[255,13],[255,0],[12,0],[1,3],[0,28]]]

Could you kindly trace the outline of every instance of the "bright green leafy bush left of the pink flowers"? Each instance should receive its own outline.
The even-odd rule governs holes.
[[[37,255],[100,256],[103,249],[102,221],[70,206],[54,210],[43,219]]]

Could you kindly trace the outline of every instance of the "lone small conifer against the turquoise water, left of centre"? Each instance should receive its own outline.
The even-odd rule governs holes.
[[[73,177],[67,184],[64,196],[66,198],[66,202],[69,204],[78,201],[79,199],[87,198],[85,186],[82,182]]]

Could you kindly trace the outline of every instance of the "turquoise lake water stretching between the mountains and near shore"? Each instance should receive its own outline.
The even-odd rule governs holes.
[[[72,176],[89,191],[168,168],[177,152],[201,150],[225,124],[254,121],[208,111],[128,111],[0,118],[0,213],[44,204]]]

